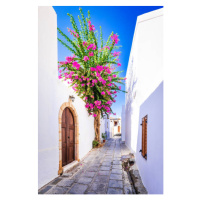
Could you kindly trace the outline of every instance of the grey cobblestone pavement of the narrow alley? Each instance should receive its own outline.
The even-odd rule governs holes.
[[[115,136],[103,147],[92,149],[75,169],[41,188],[39,194],[134,194],[121,163],[121,156],[129,153],[121,137]]]

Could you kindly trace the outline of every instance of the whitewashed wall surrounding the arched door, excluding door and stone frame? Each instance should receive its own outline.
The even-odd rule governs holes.
[[[57,16],[52,7],[38,10],[38,188],[58,176],[60,106],[73,94],[58,79]],[[66,55],[67,56],[67,55]],[[75,94],[73,103],[79,118],[79,157],[92,148],[94,119],[89,117],[84,102]]]

